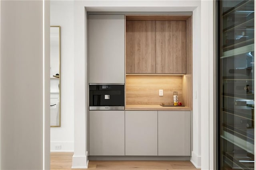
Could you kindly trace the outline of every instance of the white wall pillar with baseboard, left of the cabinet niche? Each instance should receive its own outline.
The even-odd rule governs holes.
[[[88,77],[86,74],[86,10],[84,1],[74,1],[74,155],[72,168],[87,168],[87,110],[86,84]],[[86,109],[87,108],[87,109]]]

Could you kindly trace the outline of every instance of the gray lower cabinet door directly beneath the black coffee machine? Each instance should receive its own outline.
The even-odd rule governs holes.
[[[124,111],[89,111],[89,155],[124,156]]]

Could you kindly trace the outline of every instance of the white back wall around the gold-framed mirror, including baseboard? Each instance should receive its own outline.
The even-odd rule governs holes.
[[[61,127],[51,127],[51,152],[74,152],[74,2],[50,1],[50,25],[60,25],[61,41]]]

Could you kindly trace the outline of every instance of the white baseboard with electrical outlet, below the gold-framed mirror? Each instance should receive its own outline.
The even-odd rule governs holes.
[[[55,149],[55,146],[61,146],[60,149]],[[51,152],[74,152],[74,142],[51,142]]]

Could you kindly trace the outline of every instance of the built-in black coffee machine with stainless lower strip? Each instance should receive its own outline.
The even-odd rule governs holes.
[[[124,84],[89,84],[90,110],[124,110]]]

